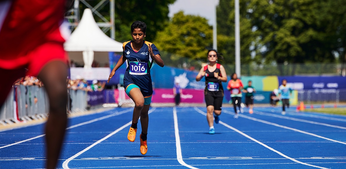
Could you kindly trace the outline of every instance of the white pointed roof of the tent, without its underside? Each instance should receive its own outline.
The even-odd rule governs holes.
[[[64,43],[66,51],[122,52],[122,43],[109,38],[99,28],[89,8],[84,10],[78,27]]]

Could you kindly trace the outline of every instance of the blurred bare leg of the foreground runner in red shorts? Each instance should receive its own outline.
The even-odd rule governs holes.
[[[38,74],[49,98],[49,116],[45,133],[48,169],[56,167],[67,125],[67,65],[62,61],[47,63]]]

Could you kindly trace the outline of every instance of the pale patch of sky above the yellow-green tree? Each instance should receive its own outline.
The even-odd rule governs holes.
[[[213,25],[215,18],[215,6],[219,3],[219,0],[176,0],[174,4],[169,6],[169,17],[180,10],[184,11],[184,14],[199,15],[207,18],[208,23]]]

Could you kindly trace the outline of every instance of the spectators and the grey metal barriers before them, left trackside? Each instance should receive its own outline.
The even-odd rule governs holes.
[[[92,84],[88,84],[83,79],[67,79],[66,82],[69,93],[69,97],[66,98],[68,100],[66,105],[68,112],[88,109],[88,92],[91,94],[102,93],[105,85],[105,82],[102,83],[97,80],[94,80]],[[43,83],[36,77],[26,76],[13,84],[4,105],[0,109],[0,124],[7,125],[20,121],[42,119],[47,116],[48,111],[48,96]]]

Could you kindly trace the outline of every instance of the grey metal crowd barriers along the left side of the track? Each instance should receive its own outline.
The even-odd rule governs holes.
[[[85,111],[87,92],[69,89],[66,105],[70,112]],[[14,86],[0,109],[0,124],[7,125],[20,121],[31,121],[47,117],[49,101],[44,87]]]

